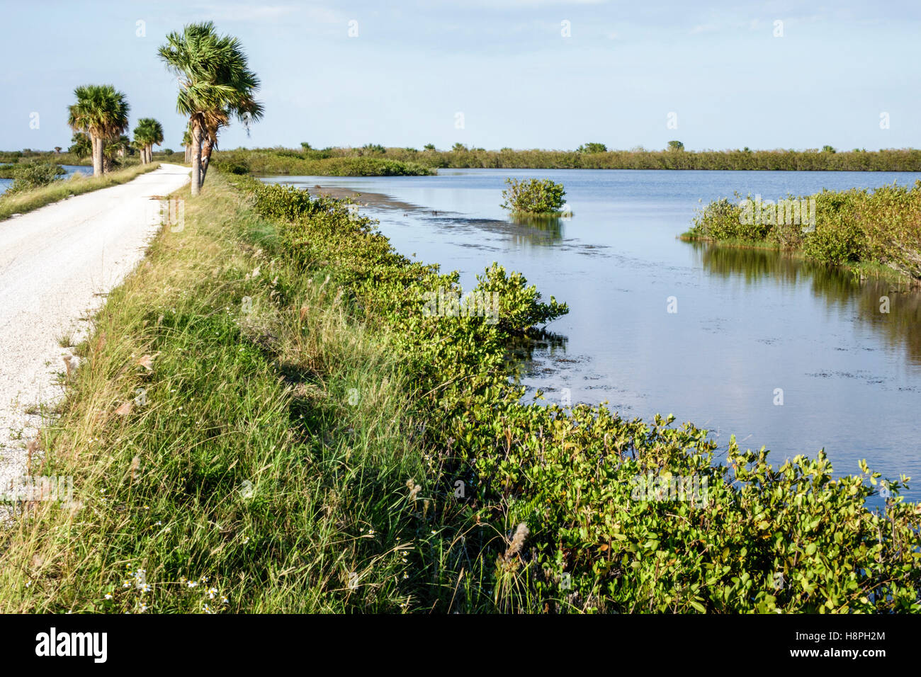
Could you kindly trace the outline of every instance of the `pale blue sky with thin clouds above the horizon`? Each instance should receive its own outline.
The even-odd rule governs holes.
[[[132,121],[157,118],[179,149],[157,46],[204,19],[262,77],[265,119],[224,148],[921,146],[918,3],[42,1],[2,16],[3,149],[67,146],[89,83],[122,89]]]

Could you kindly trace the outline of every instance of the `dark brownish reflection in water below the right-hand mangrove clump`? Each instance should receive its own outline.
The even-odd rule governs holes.
[[[857,321],[872,327],[891,347],[902,348],[911,363],[921,367],[921,333],[915,331],[921,326],[917,288],[875,278],[860,281],[851,271],[780,251],[690,244],[709,273],[736,276],[750,285],[764,280],[779,286],[808,285],[829,307],[855,310]]]

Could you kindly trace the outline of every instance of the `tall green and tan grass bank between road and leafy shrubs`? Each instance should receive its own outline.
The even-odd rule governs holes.
[[[42,448],[54,453],[32,469],[74,475],[82,507],[33,504],[37,519],[17,522],[0,609],[407,603],[394,585],[410,570],[404,553],[429,549],[402,531],[400,499],[385,488],[421,472],[421,455],[395,432],[402,375],[386,339],[350,320],[322,276],[275,262],[273,241],[274,226],[214,173],[206,196],[188,203],[184,230],[161,233],[111,294],[79,348],[85,366],[61,418],[45,431]],[[138,365],[146,355],[149,372]],[[138,388],[146,404],[115,414]],[[352,388],[362,393],[355,404]],[[129,569],[144,569],[151,591],[123,588],[135,580]],[[413,576],[429,578],[425,568]]]

